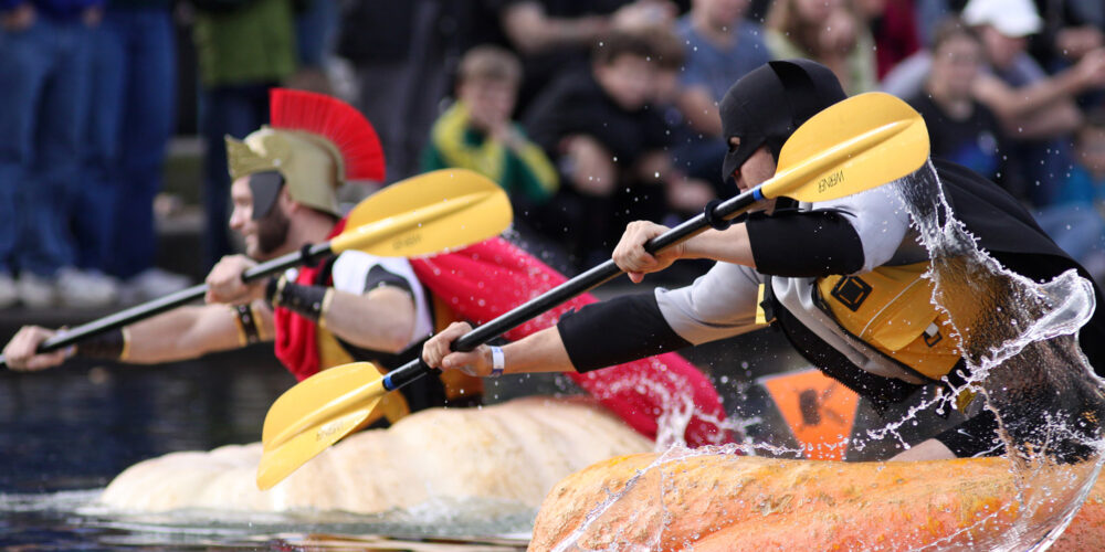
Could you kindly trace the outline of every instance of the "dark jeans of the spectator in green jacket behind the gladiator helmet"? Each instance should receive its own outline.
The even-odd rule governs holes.
[[[276,83],[220,86],[200,94],[200,134],[203,135],[203,209],[207,226],[203,255],[211,268],[231,253],[230,176],[224,136],[238,139],[269,123],[269,88]]]

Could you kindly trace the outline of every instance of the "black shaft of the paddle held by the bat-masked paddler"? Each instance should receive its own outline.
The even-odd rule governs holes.
[[[722,221],[727,223],[734,217],[748,211],[753,205],[761,201],[759,188],[748,190],[735,198],[722,203],[711,202],[702,214],[698,214],[678,226],[664,232],[663,234],[649,240],[644,244],[644,251],[650,254],[663,251],[672,245],[683,243],[695,235],[705,232],[712,224],[709,221]],[[719,224],[720,225],[720,224]],[[596,287],[610,282],[622,273],[621,268],[613,262],[607,261],[575,278],[560,284],[548,291],[519,305],[508,312],[505,312],[494,320],[475,328],[469,333],[461,336],[450,346],[454,351],[471,351],[499,335],[509,331],[554,307],[571,299],[580,294],[590,291]],[[436,372],[425,364],[421,357],[392,370],[383,378],[383,386],[388,391],[393,391],[407,385],[425,374]]]

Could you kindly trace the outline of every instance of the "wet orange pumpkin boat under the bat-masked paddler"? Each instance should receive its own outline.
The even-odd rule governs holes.
[[[621,492],[576,535],[581,548],[893,551],[939,541],[949,550],[986,550],[1021,512],[1003,458],[839,463],[705,454],[650,469],[657,458],[611,458],[560,481],[541,505],[529,550],[561,544]],[[1066,468],[1043,469],[1033,485],[1052,479],[1061,488],[1065,479],[1054,470]],[[1050,550],[1105,550],[1105,482]]]

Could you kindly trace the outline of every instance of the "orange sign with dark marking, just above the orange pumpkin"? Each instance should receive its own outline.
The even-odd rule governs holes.
[[[808,459],[844,459],[860,402],[852,390],[820,370],[768,378],[762,385]]]

